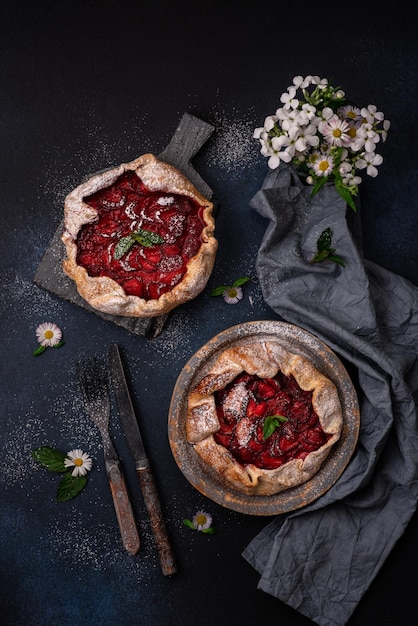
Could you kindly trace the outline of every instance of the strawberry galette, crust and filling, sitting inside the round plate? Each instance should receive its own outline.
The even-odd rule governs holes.
[[[334,383],[275,341],[227,348],[187,398],[186,437],[235,490],[273,495],[312,478],[341,435]]]

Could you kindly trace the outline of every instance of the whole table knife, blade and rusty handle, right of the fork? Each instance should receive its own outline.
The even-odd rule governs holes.
[[[135,460],[136,474],[147,509],[155,545],[160,557],[161,569],[165,576],[170,576],[176,573],[177,567],[168,539],[154,477],[145,452],[117,344],[112,344],[110,347],[108,363],[113,390],[118,404],[120,423],[129,451]]]

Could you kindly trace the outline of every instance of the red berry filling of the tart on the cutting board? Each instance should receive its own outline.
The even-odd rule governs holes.
[[[77,263],[89,276],[108,276],[127,295],[158,299],[179,283],[202,243],[204,207],[188,196],[150,191],[135,172],[83,201],[98,212],[77,238]],[[122,237],[137,231],[159,235],[162,243],[135,242],[115,258]]]

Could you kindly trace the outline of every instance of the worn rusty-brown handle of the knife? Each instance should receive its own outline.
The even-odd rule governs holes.
[[[173,552],[168,540],[167,530],[161,511],[161,505],[150,468],[141,467],[136,470],[141,487],[145,506],[148,511],[152,534],[160,556],[161,569],[164,576],[170,576],[177,571]]]

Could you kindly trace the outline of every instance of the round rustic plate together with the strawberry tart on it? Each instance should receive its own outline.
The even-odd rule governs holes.
[[[169,440],[183,474],[234,510],[286,512],[325,493],[354,452],[359,410],[338,357],[284,322],[239,324],[183,368]]]

